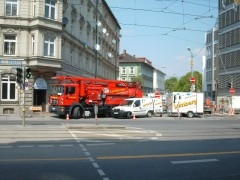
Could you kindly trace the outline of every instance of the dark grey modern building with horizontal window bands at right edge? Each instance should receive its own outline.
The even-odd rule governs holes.
[[[237,4],[236,4],[237,3]],[[238,1],[218,0],[218,96],[240,95],[240,8]],[[229,84],[230,87],[229,87]]]

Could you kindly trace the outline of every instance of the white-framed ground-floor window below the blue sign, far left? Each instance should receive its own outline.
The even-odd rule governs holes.
[[[15,101],[17,99],[16,76],[1,76],[1,100]]]

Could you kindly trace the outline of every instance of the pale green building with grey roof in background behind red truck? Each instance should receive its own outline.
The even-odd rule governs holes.
[[[152,62],[148,59],[136,58],[124,50],[119,55],[119,79],[132,81],[136,77],[142,80],[144,93],[165,91],[165,73],[153,67]]]

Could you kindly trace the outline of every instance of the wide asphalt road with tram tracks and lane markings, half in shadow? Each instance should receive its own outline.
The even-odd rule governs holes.
[[[0,179],[240,179],[240,119],[1,120]]]

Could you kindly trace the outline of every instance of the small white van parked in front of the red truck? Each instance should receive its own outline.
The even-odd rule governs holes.
[[[160,98],[129,98],[112,109],[112,116],[115,118],[151,117],[154,114],[162,116],[162,109],[162,99]]]

